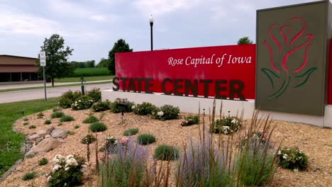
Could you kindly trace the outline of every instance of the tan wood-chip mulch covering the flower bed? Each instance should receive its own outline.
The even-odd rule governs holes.
[[[72,115],[75,120],[57,126],[59,119],[55,118],[51,119],[52,123],[50,125],[44,125],[44,121],[50,119],[50,115],[52,114],[52,110],[49,110],[43,112],[44,117],[42,119],[37,118],[38,113],[27,116],[29,125],[35,125],[35,129],[31,130],[28,129],[29,125],[23,125],[23,118],[16,121],[14,128],[24,135],[30,135],[51,126],[56,129],[70,130],[74,132],[74,135],[68,135],[64,143],[50,152],[40,153],[35,155],[35,157],[24,159],[22,164],[0,183],[0,186],[47,186],[47,176],[45,174],[52,171],[51,161],[55,154],[66,156],[68,154],[77,154],[80,157],[87,157],[87,147],[86,145],[82,145],[81,140],[89,132],[89,124],[82,123],[82,120],[87,118],[92,111],[64,109],[62,112],[66,115]],[[169,121],[152,120],[147,116],[126,113],[124,125],[121,124],[121,113],[115,114],[107,111],[104,113],[94,113],[94,115],[97,118],[103,115],[101,122],[105,123],[108,127],[108,130],[97,133],[99,145],[101,145],[106,135],[113,135],[120,139],[123,137],[123,131],[130,128],[138,128],[138,134],[150,133],[155,135],[157,141],[153,145],[148,145],[150,153],[153,153],[154,148],[160,144],[173,145],[182,149],[183,142],[187,142],[188,137],[199,136],[199,125],[188,127],[179,125],[182,122],[183,115],[188,115],[187,113],[181,113],[178,120]],[[207,117],[206,120],[208,120]],[[79,125],[79,128],[75,129],[75,125]],[[309,157],[309,167],[306,171],[299,172],[278,167],[272,182],[268,186],[331,186],[332,130],[313,125],[286,123],[277,120],[274,120],[272,125],[276,125],[272,135],[272,142],[275,145],[282,142],[282,147],[299,147]],[[227,135],[223,136],[227,138]],[[133,138],[135,137],[137,135],[133,136]],[[91,145],[90,149],[94,150],[95,145]],[[49,163],[45,166],[38,166],[38,161],[42,158],[48,159]],[[172,162],[173,166],[174,163]],[[90,156],[89,164],[89,168],[84,172],[84,185],[82,186],[97,186],[97,177],[94,174],[96,164],[94,151],[92,151]],[[22,176],[27,172],[36,172],[38,177],[31,181],[23,181]]]

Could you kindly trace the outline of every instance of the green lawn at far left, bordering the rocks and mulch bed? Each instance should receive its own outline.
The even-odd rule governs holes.
[[[21,133],[13,132],[13,123],[25,115],[55,108],[58,99],[49,98],[48,101],[38,99],[0,104],[0,176],[10,169],[18,159],[23,158],[21,147],[25,137]],[[22,111],[24,111],[24,115]]]

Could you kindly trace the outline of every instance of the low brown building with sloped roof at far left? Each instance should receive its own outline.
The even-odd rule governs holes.
[[[35,58],[0,55],[0,82],[38,81]]]

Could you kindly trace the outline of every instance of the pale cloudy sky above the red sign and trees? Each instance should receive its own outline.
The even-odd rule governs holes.
[[[0,55],[37,57],[53,33],[74,49],[71,60],[107,58],[123,38],[134,51],[255,41],[256,10],[306,0],[0,0]]]

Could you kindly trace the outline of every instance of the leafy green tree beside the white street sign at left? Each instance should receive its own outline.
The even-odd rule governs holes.
[[[60,35],[53,34],[49,39],[45,38],[44,45],[40,46],[41,50],[46,53],[45,75],[47,79],[51,79],[52,86],[54,86],[55,78],[68,77],[74,72],[72,64],[67,62],[73,49],[64,45],[65,40]],[[43,67],[40,67],[38,71],[43,72]]]

